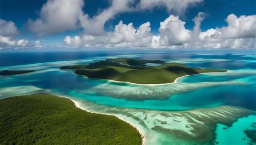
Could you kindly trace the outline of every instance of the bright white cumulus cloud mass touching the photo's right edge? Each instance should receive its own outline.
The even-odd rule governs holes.
[[[230,14],[226,21],[227,26],[210,28],[205,32],[199,30],[199,40],[191,42],[190,46],[200,48],[255,48],[256,15],[238,18],[234,14]],[[201,23],[201,21],[198,22]],[[195,25],[197,25],[196,21]]]

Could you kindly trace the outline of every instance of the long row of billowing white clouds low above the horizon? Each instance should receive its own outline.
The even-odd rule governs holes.
[[[227,16],[227,26],[201,31],[201,22],[206,14],[199,12],[194,21],[193,30],[185,28],[185,21],[172,14],[160,22],[159,34],[151,33],[150,23],[138,28],[132,23],[119,22],[114,31],[103,36],[81,35],[68,36],[64,43],[75,47],[147,47],[147,48],[255,48],[256,15]],[[69,41],[67,41],[69,40]]]

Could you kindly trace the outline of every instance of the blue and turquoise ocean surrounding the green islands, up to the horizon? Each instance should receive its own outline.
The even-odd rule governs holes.
[[[116,57],[163,60],[228,71],[191,75],[179,78],[176,83],[149,86],[90,79],[72,70],[59,69]],[[244,130],[252,129],[256,120],[247,119],[244,112],[256,111],[254,50],[0,52],[0,70],[5,69],[36,72],[0,76],[0,98],[33,93],[67,97],[87,111],[116,115],[136,126],[146,144],[235,144],[236,140],[239,144],[252,143]],[[255,115],[250,118],[255,119]],[[221,129],[223,126],[228,129]],[[204,138],[200,136],[202,131],[213,136]],[[177,136],[177,133],[185,135]],[[236,140],[232,140],[232,136]]]

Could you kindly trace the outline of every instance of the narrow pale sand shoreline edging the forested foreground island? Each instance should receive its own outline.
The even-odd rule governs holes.
[[[64,96],[60,96],[60,97],[64,97]],[[89,111],[89,110],[86,110],[84,107],[81,107],[81,106],[79,105],[79,103],[78,103],[76,100],[73,100],[73,99],[71,99],[71,98],[69,98],[69,97],[64,97],[64,98],[70,99],[70,100],[76,105],[76,107],[78,107],[78,108],[80,108],[80,109],[82,109],[82,110],[84,110],[84,111],[87,111],[87,112],[90,112],[90,113],[96,113],[96,112],[91,112],[91,111]],[[112,115],[112,114],[106,114],[106,113],[96,113],[96,114]],[[114,116],[114,117],[116,117],[116,118],[118,118],[118,119],[120,119],[120,120],[122,120],[122,121],[125,121],[124,119],[122,119],[122,118],[120,118],[120,117],[117,117],[116,115],[112,115],[112,116]],[[142,145],[145,145],[145,136],[143,135],[142,131],[140,131],[140,129],[139,129],[138,127],[136,127],[136,126],[130,124],[129,122],[127,122],[127,121],[125,121],[125,122],[126,122],[127,124],[131,125],[133,128],[136,128],[136,129],[137,129],[137,131],[139,132],[139,134],[140,134],[141,137],[142,137]]]

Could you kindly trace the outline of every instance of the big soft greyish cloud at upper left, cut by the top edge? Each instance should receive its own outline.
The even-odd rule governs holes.
[[[83,0],[48,0],[41,9],[40,17],[29,19],[29,30],[37,35],[75,30],[83,5]]]

